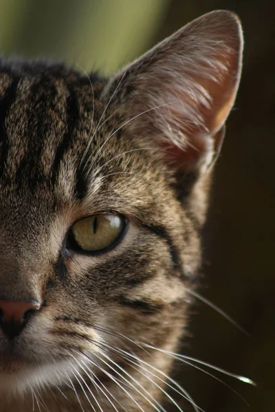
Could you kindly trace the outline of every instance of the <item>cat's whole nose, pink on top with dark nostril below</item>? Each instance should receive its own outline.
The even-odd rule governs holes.
[[[38,302],[0,300],[0,326],[12,339],[18,336],[28,320],[41,308]]]

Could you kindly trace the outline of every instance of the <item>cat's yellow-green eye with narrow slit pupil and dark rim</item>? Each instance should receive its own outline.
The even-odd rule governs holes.
[[[125,229],[125,218],[115,214],[95,214],[74,223],[69,247],[76,251],[100,252],[113,247]]]

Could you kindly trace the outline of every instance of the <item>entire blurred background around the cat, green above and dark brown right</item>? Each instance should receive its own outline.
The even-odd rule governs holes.
[[[274,412],[275,2],[270,0],[0,0],[0,52],[65,60],[104,74],[214,9],[243,22],[243,80],[217,163],[200,293],[250,337],[198,302],[182,353],[236,374],[250,387],[184,365],[175,377],[206,412]],[[181,402],[182,403],[182,402]],[[188,404],[184,411],[191,411]],[[173,411],[173,406],[168,407]]]

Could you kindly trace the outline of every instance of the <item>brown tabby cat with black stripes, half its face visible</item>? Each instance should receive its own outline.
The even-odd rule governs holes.
[[[169,373],[242,50],[221,10],[111,78],[1,59],[0,412],[199,410]]]

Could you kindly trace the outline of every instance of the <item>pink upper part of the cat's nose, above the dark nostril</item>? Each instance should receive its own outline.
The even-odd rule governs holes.
[[[28,310],[39,310],[40,304],[32,304],[25,301],[4,301],[0,300],[0,309],[3,312],[3,322],[21,322],[23,315]]]

